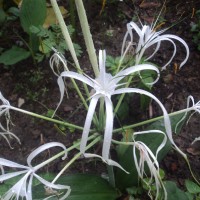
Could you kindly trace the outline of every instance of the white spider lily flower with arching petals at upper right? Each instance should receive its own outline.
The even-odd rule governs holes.
[[[133,30],[139,36],[138,43],[135,42],[133,39]],[[156,32],[155,30],[156,30],[156,28],[154,25],[152,25],[152,26],[142,25],[142,28],[140,29],[135,22],[128,23],[127,24],[127,32],[124,36],[124,40],[123,40],[123,44],[122,44],[122,50],[121,50],[122,57],[124,57],[124,55],[127,53],[130,46],[132,46],[134,44],[135,45],[135,60],[136,60],[136,64],[139,64],[142,57],[144,56],[145,51],[149,47],[151,47],[152,45],[156,45],[156,48],[155,48],[154,52],[152,53],[152,55],[149,56],[148,58],[146,58],[145,61],[149,60],[150,58],[152,58],[155,55],[155,53],[159,50],[162,41],[169,41],[169,42],[171,42],[171,44],[174,47],[174,52],[173,52],[171,58],[169,59],[169,61],[162,67],[162,70],[165,70],[167,65],[169,65],[171,63],[172,59],[174,58],[174,56],[176,54],[176,45],[173,40],[178,40],[186,49],[186,57],[183,60],[183,62],[180,64],[180,68],[181,68],[186,63],[186,61],[188,60],[188,57],[189,57],[189,47],[186,44],[186,42],[176,35],[172,35],[172,34],[162,35],[162,33],[164,33],[167,29],[163,29],[158,32]],[[128,42],[128,46],[125,47],[128,36],[130,36],[130,41]]]

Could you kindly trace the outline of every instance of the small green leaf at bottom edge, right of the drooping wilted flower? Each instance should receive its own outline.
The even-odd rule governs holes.
[[[180,190],[176,184],[172,181],[165,181],[164,182],[166,191],[167,191],[167,199],[168,200],[188,200],[187,195],[185,192]]]

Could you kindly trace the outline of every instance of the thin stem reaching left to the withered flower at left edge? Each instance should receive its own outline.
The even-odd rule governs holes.
[[[77,130],[83,130],[83,127],[81,126],[77,126],[77,125],[74,125],[74,124],[71,124],[71,123],[68,123],[68,122],[64,122],[64,121],[60,121],[60,120],[57,120],[57,119],[53,119],[53,118],[50,118],[50,117],[46,117],[46,116],[43,116],[43,115],[39,115],[39,114],[36,114],[34,112],[30,112],[30,111],[27,111],[27,110],[23,110],[23,109],[20,109],[20,108],[16,108],[14,106],[7,106],[7,105],[4,105],[4,106],[1,106],[2,108],[9,108],[11,110],[15,110],[15,111],[18,111],[18,112],[22,112],[24,114],[27,114],[27,115],[31,115],[33,117],[37,117],[37,118],[40,118],[40,119],[44,119],[46,121],[50,121],[50,122],[54,122],[56,124],[60,124],[60,125],[63,125],[63,126],[68,126],[68,127],[71,127],[71,128],[75,128]]]

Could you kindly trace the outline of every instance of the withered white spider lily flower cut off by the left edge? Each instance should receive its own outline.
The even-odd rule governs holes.
[[[10,103],[8,100],[4,98],[1,92],[0,92],[0,100],[2,101],[2,106],[0,105],[0,117],[2,115],[5,115],[5,118],[6,118],[6,128],[4,128],[0,122],[0,136],[2,136],[7,141],[10,148],[12,148],[8,137],[15,138],[19,144],[20,144],[20,139],[15,134],[11,133],[9,130],[9,125],[11,123],[10,112],[9,112]],[[5,105],[6,107],[4,107]]]

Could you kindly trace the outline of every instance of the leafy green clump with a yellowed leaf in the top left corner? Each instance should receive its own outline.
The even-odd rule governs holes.
[[[62,7],[60,9],[63,10]],[[47,11],[48,15],[46,14]],[[37,2],[25,0],[22,2],[20,9],[11,7],[7,10],[7,13],[9,15],[3,9],[0,10],[0,25],[3,27],[1,35],[6,35],[9,28],[7,24],[20,19],[20,26],[28,34],[28,39],[26,37],[24,39],[22,33],[16,32],[21,44],[15,44],[10,49],[2,49],[0,63],[9,66],[30,56],[35,62],[41,62],[44,58],[50,56],[54,51],[53,48],[61,53],[68,51],[60,27],[56,24],[52,8],[47,7],[46,0],[37,0]],[[72,35],[74,29],[72,26],[68,28],[70,35]],[[80,46],[76,43],[74,43],[74,46],[77,55],[80,56],[82,53]]]

